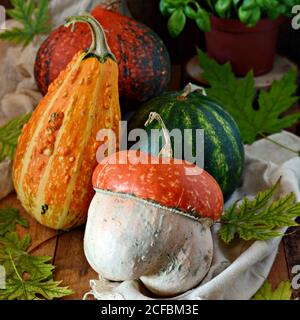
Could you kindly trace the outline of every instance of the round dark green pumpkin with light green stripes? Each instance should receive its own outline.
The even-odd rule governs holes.
[[[128,124],[129,131],[136,128],[147,131],[148,141],[140,141],[140,148],[153,155],[158,154],[161,145],[151,145],[150,130],[159,129],[159,124],[144,127],[152,111],[160,114],[169,131],[178,128],[183,136],[184,129],[194,129],[185,140],[185,144],[191,144],[193,156],[196,155],[195,129],[204,129],[204,169],[218,181],[225,198],[231,195],[240,183],[244,166],[244,146],[232,117],[198,91],[186,97],[182,92],[170,92],[154,98],[144,104]]]

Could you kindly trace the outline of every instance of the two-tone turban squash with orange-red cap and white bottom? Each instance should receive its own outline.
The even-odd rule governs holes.
[[[160,296],[200,283],[212,261],[210,226],[223,207],[213,177],[165,150],[159,157],[125,150],[97,166],[93,186],[84,251],[96,272],[140,279]]]

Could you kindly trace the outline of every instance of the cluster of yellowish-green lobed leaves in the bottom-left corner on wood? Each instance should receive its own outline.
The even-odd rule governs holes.
[[[15,225],[27,226],[26,220],[13,208],[0,209],[0,265],[6,273],[6,288],[0,289],[0,300],[36,300],[61,298],[72,294],[61,281],[53,280],[51,257],[28,253],[31,239],[28,234],[19,238]]]

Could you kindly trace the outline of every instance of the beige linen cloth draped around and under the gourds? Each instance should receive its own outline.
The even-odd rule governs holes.
[[[89,10],[101,1],[52,0],[51,14],[55,25],[63,23],[68,15]],[[8,27],[16,25],[9,21]],[[0,125],[15,116],[32,111],[41,95],[33,76],[35,55],[42,39],[22,49],[0,42]],[[300,149],[300,139],[282,132],[272,136],[285,145]],[[246,146],[246,169],[242,186],[234,193],[227,205],[244,195],[254,195],[282,176],[282,193],[293,191],[300,201],[300,158],[279,148],[273,143],[261,140]],[[0,199],[13,190],[11,182],[11,161],[0,162]],[[254,243],[236,242],[225,246],[215,238],[214,261],[199,287],[174,299],[249,299],[267,277],[276,257],[280,238]],[[97,299],[147,299],[139,290],[138,282],[126,281],[110,284],[91,280],[92,294]]]

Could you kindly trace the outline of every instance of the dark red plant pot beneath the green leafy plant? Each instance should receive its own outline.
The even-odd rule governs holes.
[[[260,20],[249,28],[235,19],[211,17],[212,29],[205,33],[210,57],[224,64],[230,62],[237,76],[253,70],[258,76],[273,67],[278,30],[283,18]]]

